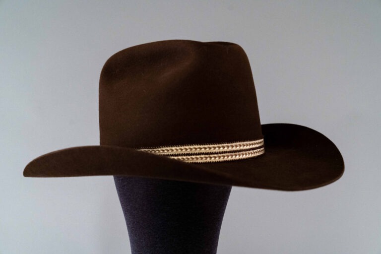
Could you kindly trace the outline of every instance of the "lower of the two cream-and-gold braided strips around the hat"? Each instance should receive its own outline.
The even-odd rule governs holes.
[[[224,154],[206,154],[206,155],[195,155],[195,156],[168,156],[169,158],[181,160],[188,163],[206,163],[206,162],[222,162],[222,161],[233,161],[233,160],[243,160],[257,157],[264,153],[264,148],[259,148],[252,151],[244,152],[233,152]]]

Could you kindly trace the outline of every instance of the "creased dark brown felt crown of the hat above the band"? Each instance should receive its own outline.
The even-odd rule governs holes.
[[[208,144],[262,137],[249,60],[237,44],[170,40],[122,50],[99,83],[100,143]]]

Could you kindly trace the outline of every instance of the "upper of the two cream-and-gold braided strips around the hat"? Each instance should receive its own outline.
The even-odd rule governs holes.
[[[232,143],[220,143],[220,144],[195,144],[195,145],[175,145],[167,147],[155,147],[155,148],[140,148],[139,151],[160,154],[160,155],[173,155],[184,153],[211,153],[211,152],[226,152],[237,151],[243,149],[253,149],[260,147],[264,144],[263,138],[250,141],[232,142]]]

